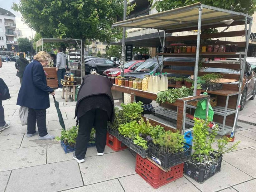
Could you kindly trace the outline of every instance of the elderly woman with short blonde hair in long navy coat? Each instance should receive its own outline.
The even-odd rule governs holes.
[[[46,109],[50,107],[49,93],[55,94],[55,91],[47,86],[43,68],[50,60],[51,57],[48,53],[38,52],[34,56],[33,62],[27,65],[23,74],[17,105],[28,107],[27,137],[32,137],[39,132],[39,139],[55,138],[48,134],[46,129]]]

